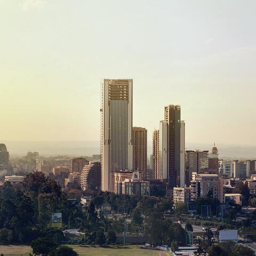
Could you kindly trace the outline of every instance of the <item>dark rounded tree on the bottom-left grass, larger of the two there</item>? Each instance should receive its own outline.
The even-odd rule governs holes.
[[[50,238],[39,237],[31,243],[34,254],[42,254],[42,256],[52,256],[55,253],[57,244]]]

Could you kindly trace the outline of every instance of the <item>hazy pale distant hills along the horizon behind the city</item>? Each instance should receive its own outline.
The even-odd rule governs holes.
[[[40,155],[95,155],[100,154],[100,141],[6,141],[10,155],[24,156],[27,151],[37,151]],[[211,150],[213,145],[202,143],[186,143],[186,150]],[[256,159],[256,146],[217,145],[220,158]],[[152,141],[148,141],[148,158],[152,152]]]

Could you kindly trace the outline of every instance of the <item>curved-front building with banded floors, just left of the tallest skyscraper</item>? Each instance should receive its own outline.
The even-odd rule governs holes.
[[[81,188],[100,189],[101,188],[101,166],[100,162],[89,163],[84,166],[81,173]]]

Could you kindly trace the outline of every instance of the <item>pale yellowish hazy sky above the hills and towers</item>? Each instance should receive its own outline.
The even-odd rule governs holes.
[[[0,0],[0,139],[99,140],[101,78],[133,124],[181,105],[187,142],[256,144],[256,1]]]

